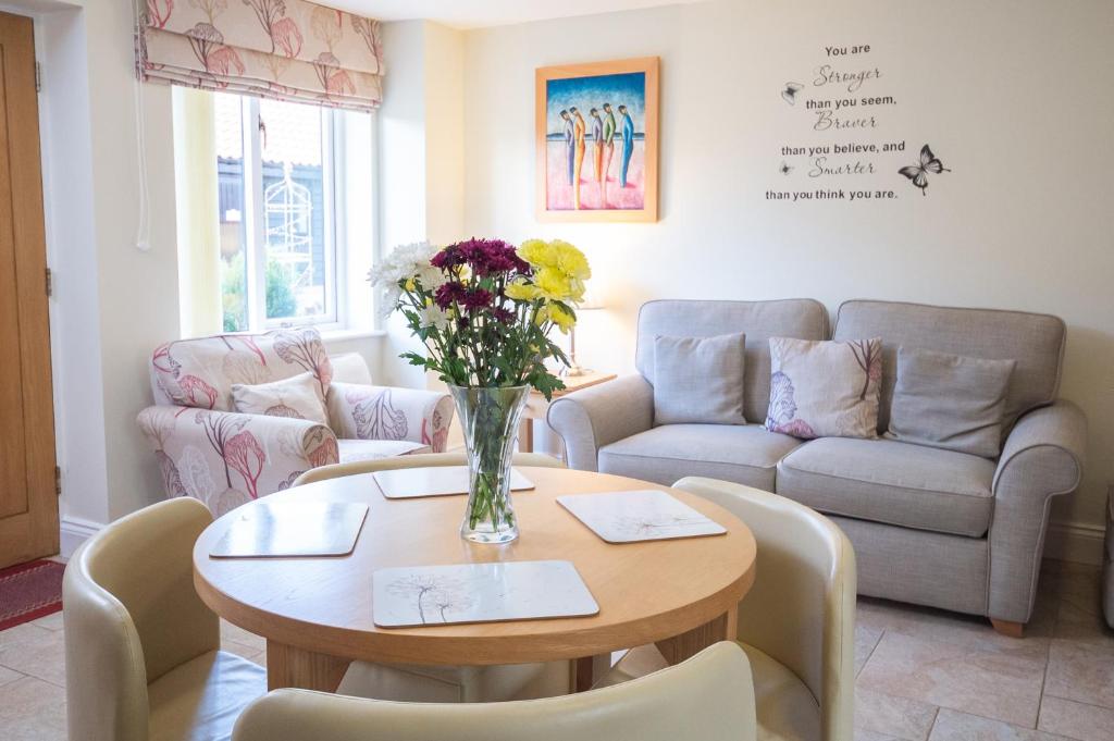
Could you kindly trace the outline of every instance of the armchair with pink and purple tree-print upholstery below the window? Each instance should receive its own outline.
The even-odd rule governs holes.
[[[232,387],[312,373],[329,426],[285,406],[236,411]],[[335,462],[444,449],[452,400],[436,391],[371,384],[354,353],[330,359],[316,330],[222,334],[169,342],[150,364],[155,406],[139,428],[155,448],[168,497],[189,496],[222,515]]]

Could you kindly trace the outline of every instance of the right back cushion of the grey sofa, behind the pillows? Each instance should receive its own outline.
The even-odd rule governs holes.
[[[883,432],[890,421],[899,347],[970,358],[1016,360],[1003,420],[1008,429],[1029,409],[1055,401],[1066,334],[1064,321],[1048,314],[950,309],[891,301],[848,301],[839,308],[832,338],[882,338],[882,396],[878,431]]]

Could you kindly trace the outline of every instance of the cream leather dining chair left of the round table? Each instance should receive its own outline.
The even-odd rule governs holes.
[[[196,499],[170,499],[108,525],[70,558],[70,741],[224,740],[267,691],[261,666],[219,651],[219,621],[194,591],[194,542],[211,521]]]

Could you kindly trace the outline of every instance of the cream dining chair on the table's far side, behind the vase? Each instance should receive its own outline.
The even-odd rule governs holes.
[[[515,466],[538,468],[565,467],[551,456],[531,452],[516,455],[512,462]],[[358,460],[307,470],[295,479],[294,486],[400,468],[467,464],[463,452]],[[504,702],[566,694],[571,689],[571,681],[573,665],[567,661],[495,666],[420,666],[358,661],[349,666],[336,692],[358,698],[410,702]]]

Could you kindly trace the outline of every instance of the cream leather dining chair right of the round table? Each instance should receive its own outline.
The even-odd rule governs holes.
[[[774,494],[695,477],[674,487],[730,510],[758,542],[754,585],[739,603],[737,642],[754,676],[759,738],[851,741],[857,584],[850,540],[827,517]],[[639,646],[596,686],[666,665],[657,649]]]

